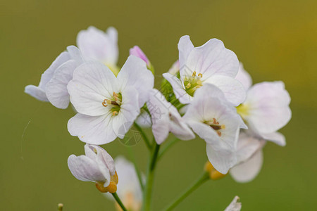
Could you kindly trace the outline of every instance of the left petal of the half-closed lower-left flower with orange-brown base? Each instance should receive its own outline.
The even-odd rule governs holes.
[[[70,155],[68,158],[68,168],[70,172],[81,181],[109,181],[110,174],[105,175],[99,170],[97,162],[86,157],[85,155]]]

